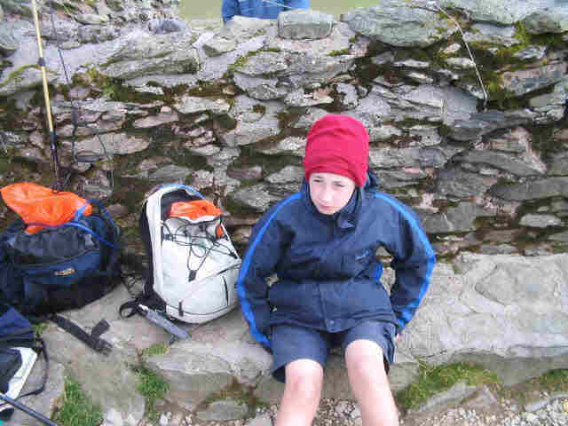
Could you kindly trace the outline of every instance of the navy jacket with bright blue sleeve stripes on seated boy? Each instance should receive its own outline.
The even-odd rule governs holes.
[[[393,256],[390,295],[381,284],[376,249]],[[250,333],[271,348],[271,326],[296,324],[330,332],[367,319],[395,324],[400,333],[422,301],[436,263],[414,212],[376,189],[364,189],[334,215],[312,204],[307,183],[256,223],[241,265],[237,293]],[[271,287],[266,278],[274,272]]]

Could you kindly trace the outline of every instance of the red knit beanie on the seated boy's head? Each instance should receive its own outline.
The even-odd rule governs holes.
[[[335,173],[363,187],[367,181],[369,135],[365,126],[348,115],[328,114],[313,123],[305,146],[304,176]]]

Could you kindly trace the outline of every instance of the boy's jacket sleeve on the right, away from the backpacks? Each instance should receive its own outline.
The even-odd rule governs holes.
[[[436,264],[436,254],[418,217],[405,205],[398,204],[398,230],[393,230],[388,249],[394,257],[391,266],[395,271],[390,304],[397,316],[399,334],[414,317],[430,287],[430,275]]]

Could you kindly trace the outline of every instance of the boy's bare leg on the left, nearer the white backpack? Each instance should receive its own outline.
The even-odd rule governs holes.
[[[323,367],[312,359],[286,366],[286,385],[275,426],[310,426],[319,406]]]

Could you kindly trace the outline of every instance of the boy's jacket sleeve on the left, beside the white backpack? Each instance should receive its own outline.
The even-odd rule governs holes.
[[[271,307],[266,278],[274,272],[281,255],[282,233],[274,220],[277,212],[268,210],[254,226],[237,280],[237,294],[250,334],[269,350]]]

